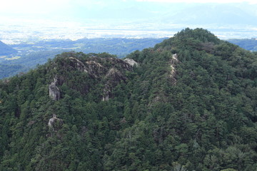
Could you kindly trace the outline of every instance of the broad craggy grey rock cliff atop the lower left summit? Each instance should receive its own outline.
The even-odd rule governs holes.
[[[101,99],[109,100],[113,97],[111,93],[113,88],[121,81],[126,81],[126,71],[132,71],[133,65],[131,63],[137,65],[136,61],[132,59],[129,61],[112,57],[100,58],[97,54],[87,58],[79,58],[74,53],[66,53],[66,57],[59,58],[54,63],[55,73],[58,73],[58,76],[57,74],[53,76],[54,81],[49,86],[49,95],[53,100],[59,100],[61,98],[59,87],[64,83],[67,86],[72,85],[71,88],[79,90],[81,94],[89,93],[96,87],[96,84],[101,83],[104,85]],[[76,75],[71,73],[76,73]],[[90,81],[86,81],[89,78]],[[75,84],[74,81],[77,83]]]

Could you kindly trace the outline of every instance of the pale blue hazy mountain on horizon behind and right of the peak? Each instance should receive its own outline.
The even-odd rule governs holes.
[[[255,13],[232,4],[202,4],[178,11],[163,18],[175,24],[215,24],[257,26]]]

